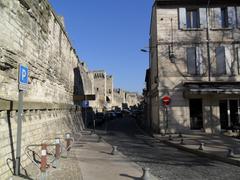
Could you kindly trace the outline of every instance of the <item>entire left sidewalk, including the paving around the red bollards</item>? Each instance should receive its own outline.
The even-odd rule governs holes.
[[[99,140],[96,134],[83,132],[75,141],[67,158],[59,160],[59,167],[47,171],[47,180],[141,180],[142,168],[118,152],[112,155],[112,146]],[[40,171],[30,164],[22,177],[11,180],[40,179]],[[151,176],[150,180],[157,178]]]

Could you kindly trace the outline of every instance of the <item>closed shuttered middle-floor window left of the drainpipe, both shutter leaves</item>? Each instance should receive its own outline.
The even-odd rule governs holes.
[[[187,68],[188,73],[192,75],[203,73],[202,55],[199,47],[187,48]]]

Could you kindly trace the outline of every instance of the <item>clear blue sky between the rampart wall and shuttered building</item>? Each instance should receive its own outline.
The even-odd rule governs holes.
[[[49,0],[88,69],[113,75],[114,88],[142,92],[153,0]]]

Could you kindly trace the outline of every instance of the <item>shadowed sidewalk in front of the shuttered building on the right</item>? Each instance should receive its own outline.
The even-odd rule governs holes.
[[[162,136],[154,134],[153,136],[169,146],[214,160],[240,166],[239,139],[224,135],[209,135],[203,132],[182,134],[182,137],[179,137],[179,134],[172,134],[171,139],[169,138],[169,135]],[[181,143],[181,139],[183,139],[183,143]],[[200,143],[204,143],[203,150],[199,149]],[[228,156],[229,149],[232,149],[234,152],[234,155],[231,157]]]

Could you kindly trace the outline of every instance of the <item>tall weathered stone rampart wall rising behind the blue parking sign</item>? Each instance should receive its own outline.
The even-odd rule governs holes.
[[[29,67],[22,154],[26,145],[82,127],[73,104],[82,84],[74,71],[78,57],[47,0],[0,0],[0,32],[0,179],[6,179],[15,158],[18,65]],[[28,162],[22,156],[22,165]]]

